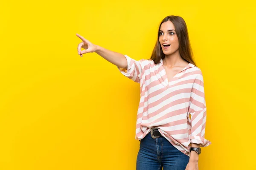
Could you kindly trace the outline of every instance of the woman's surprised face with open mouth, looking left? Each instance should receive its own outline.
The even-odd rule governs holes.
[[[173,54],[179,49],[179,41],[175,31],[175,26],[171,21],[162,23],[159,31],[159,42],[161,44],[163,54],[165,55]]]

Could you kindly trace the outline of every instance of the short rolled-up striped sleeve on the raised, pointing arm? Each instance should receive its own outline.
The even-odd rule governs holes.
[[[137,61],[127,55],[124,55],[124,56],[127,60],[127,70],[125,68],[120,68],[118,66],[117,68],[125,77],[128,77],[134,82],[140,83],[140,79],[142,77],[142,70],[143,70],[142,62],[144,59]]]

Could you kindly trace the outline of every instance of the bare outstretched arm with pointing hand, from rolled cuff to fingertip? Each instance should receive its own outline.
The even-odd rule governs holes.
[[[105,49],[99,45],[94,45],[93,43],[86,40],[81,35],[79,35],[79,34],[76,34],[76,35],[83,41],[83,42],[79,43],[79,45],[77,47],[78,54],[81,57],[83,56],[82,54],[86,54],[89,52],[90,53],[96,52],[101,57],[106,59],[108,62],[111,62],[112,64],[116,65],[117,67],[127,69],[127,67],[128,67],[127,59],[125,58],[125,56],[123,54],[120,54],[120,53],[117,53],[114,51],[110,51],[110,50]],[[85,50],[81,51],[81,48],[84,48]]]

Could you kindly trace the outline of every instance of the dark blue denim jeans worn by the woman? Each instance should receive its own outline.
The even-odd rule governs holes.
[[[189,156],[163,136],[153,139],[148,133],[140,140],[136,170],[185,170],[188,163]]]

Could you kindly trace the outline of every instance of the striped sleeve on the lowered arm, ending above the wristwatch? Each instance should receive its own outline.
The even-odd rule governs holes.
[[[211,142],[204,138],[206,102],[204,98],[204,79],[202,73],[197,75],[192,85],[188,113],[191,115],[191,119],[189,119],[191,125],[189,142],[200,144],[200,147],[207,147]]]

